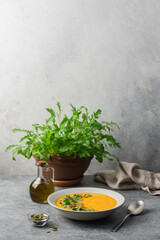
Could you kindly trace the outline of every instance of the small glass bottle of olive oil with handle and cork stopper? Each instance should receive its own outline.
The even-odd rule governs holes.
[[[55,191],[53,184],[53,168],[47,167],[45,161],[39,161],[37,178],[30,184],[30,197],[33,202],[47,203],[48,196]]]

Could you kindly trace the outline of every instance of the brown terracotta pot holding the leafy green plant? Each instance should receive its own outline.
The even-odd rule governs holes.
[[[54,168],[54,185],[71,186],[81,182],[92,158],[51,155],[48,167]],[[35,159],[36,162],[40,161],[39,158]]]

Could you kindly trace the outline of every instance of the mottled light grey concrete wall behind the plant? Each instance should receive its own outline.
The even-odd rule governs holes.
[[[0,0],[0,174],[35,173],[4,149],[57,101],[101,108],[120,125],[120,160],[160,171],[159,91],[159,0]]]

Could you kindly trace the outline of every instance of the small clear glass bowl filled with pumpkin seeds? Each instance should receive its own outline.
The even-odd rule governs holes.
[[[35,227],[43,227],[49,220],[50,216],[45,213],[28,214],[28,219]]]

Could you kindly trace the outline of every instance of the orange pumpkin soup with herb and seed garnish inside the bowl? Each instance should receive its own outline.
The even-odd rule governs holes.
[[[73,193],[56,200],[56,205],[60,208],[85,212],[111,209],[116,204],[114,198],[100,193]]]

